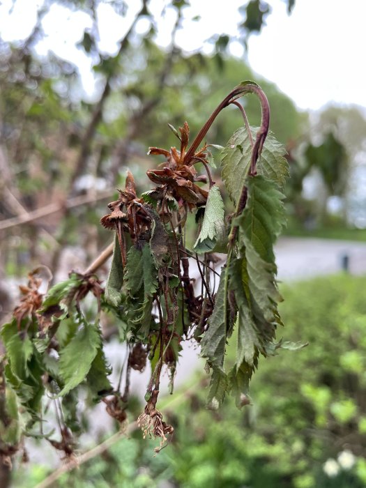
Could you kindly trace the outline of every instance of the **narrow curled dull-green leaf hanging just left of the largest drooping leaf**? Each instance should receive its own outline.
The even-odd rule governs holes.
[[[215,296],[215,308],[208,329],[201,340],[201,356],[208,358],[208,363],[216,367],[224,364],[225,344],[227,339],[227,323],[225,320],[224,281],[226,270],[222,268],[218,292]]]

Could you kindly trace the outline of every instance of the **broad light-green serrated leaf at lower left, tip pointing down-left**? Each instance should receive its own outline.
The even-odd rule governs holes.
[[[64,381],[60,396],[66,395],[84,381],[98,349],[100,349],[98,328],[82,321],[74,337],[60,351],[60,376]]]

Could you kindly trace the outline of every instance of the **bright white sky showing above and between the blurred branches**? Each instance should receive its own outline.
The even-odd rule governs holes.
[[[275,82],[301,109],[318,109],[330,101],[355,103],[366,107],[366,0],[296,0],[293,13],[288,16],[282,0],[269,0],[273,6],[268,25],[259,36],[249,41],[248,61],[259,75]],[[42,0],[17,0],[12,15],[8,16],[11,0],[0,0],[0,33],[4,40],[25,38],[36,20],[36,6]],[[158,23],[158,43],[166,46],[175,22],[173,10],[165,10],[160,17],[164,0],[151,0],[151,11]],[[205,41],[215,33],[236,35],[238,6],[243,0],[191,0],[185,8],[183,29],[176,41],[183,49],[210,52]],[[99,47],[115,52],[117,42],[140,8],[137,0],[128,1],[126,17],[112,15],[106,4],[98,10]],[[223,7],[224,5],[224,7]],[[192,17],[201,20],[192,21]],[[46,17],[47,37],[38,46],[40,54],[52,49],[57,55],[77,64],[87,91],[93,86],[91,62],[75,42],[82,38],[84,28],[90,26],[85,15],[70,15],[68,10],[54,6]],[[146,29],[146,21],[137,26]],[[244,56],[238,43],[231,52]],[[240,80],[238,80],[240,81]]]

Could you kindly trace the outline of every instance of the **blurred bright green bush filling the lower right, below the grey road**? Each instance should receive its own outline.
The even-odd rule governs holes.
[[[206,410],[200,379],[169,409],[176,432],[157,457],[136,432],[54,486],[365,487],[365,290],[348,275],[282,287],[284,339],[309,346],[261,361],[251,406]]]

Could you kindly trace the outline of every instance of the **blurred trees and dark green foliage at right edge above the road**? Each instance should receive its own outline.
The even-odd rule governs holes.
[[[353,227],[358,215],[366,221],[362,182],[365,167],[366,119],[360,107],[328,106],[310,114],[308,129],[288,144],[291,178],[287,187],[290,227]],[[306,178],[316,191],[303,197]],[[329,215],[329,197],[337,196],[341,209]]]

